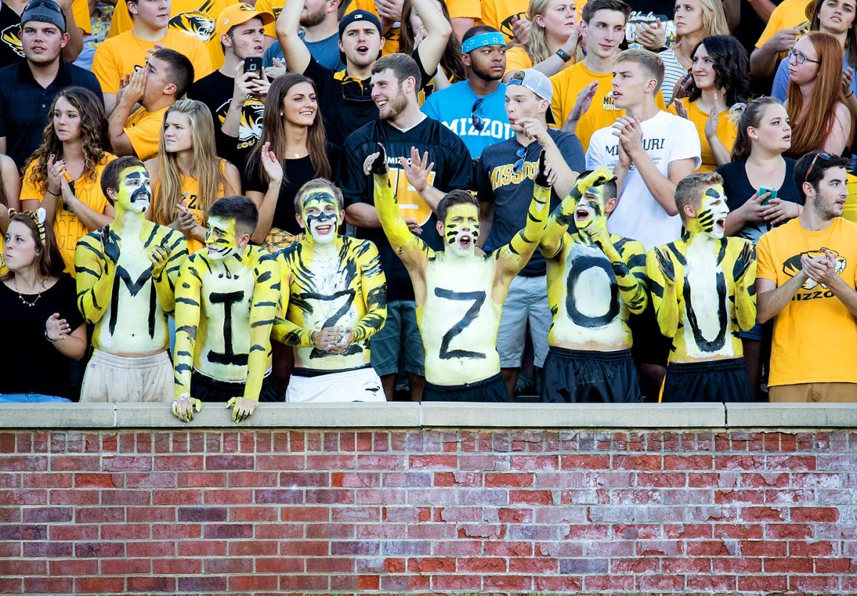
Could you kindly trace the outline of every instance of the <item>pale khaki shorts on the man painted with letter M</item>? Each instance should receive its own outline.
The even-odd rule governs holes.
[[[126,358],[95,350],[81,387],[82,402],[172,402],[172,363],[166,352]]]

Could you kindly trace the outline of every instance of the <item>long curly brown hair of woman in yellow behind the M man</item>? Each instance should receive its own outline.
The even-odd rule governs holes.
[[[55,159],[63,158],[63,141],[57,137],[54,130],[53,113],[57,109],[59,98],[65,98],[72,104],[81,118],[81,140],[83,141],[83,176],[89,176],[94,180],[95,166],[105,158],[104,147],[111,146],[110,134],[107,132],[107,118],[105,117],[104,104],[95,93],[81,86],[71,86],[57,93],[48,110],[48,122],[42,130],[42,144],[27,159],[27,167],[35,162],[33,173],[30,176],[33,186],[39,188],[46,185],[48,181],[48,159],[51,155]],[[20,106],[26,109],[26,106]],[[26,167],[25,167],[26,170]]]

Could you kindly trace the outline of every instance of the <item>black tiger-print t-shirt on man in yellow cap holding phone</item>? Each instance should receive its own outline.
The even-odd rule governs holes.
[[[265,104],[257,98],[248,98],[244,103],[238,136],[224,134],[223,122],[232,103],[235,79],[219,70],[197,80],[188,91],[188,97],[197,99],[211,110],[214,123],[214,139],[221,158],[231,161],[238,170],[244,170],[250,152],[262,134],[262,120],[265,116]]]

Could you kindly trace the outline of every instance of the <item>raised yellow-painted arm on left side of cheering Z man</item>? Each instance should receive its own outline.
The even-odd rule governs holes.
[[[402,213],[399,211],[399,200],[393,193],[393,185],[390,182],[389,170],[387,169],[384,146],[378,144],[380,152],[373,153],[366,158],[363,171],[372,173],[375,188],[375,211],[381,222],[381,228],[390,241],[393,251],[399,255],[399,259],[405,263],[409,273],[423,275],[428,265],[428,259],[434,254],[431,248],[419,237],[411,233]]]

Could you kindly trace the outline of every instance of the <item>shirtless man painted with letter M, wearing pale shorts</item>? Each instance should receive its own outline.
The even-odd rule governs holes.
[[[75,248],[77,306],[95,325],[81,402],[168,402],[167,315],[188,243],[176,229],[146,219],[152,188],[139,159],[113,160],[101,189],[115,218]]]

